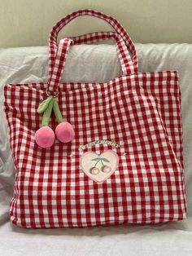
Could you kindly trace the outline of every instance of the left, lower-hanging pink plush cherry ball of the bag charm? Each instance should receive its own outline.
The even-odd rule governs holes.
[[[55,141],[54,131],[49,126],[43,126],[35,133],[35,141],[41,148],[50,148]]]

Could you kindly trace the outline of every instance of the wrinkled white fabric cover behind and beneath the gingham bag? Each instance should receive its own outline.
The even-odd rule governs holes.
[[[14,166],[2,110],[5,83],[46,82],[46,46],[0,49],[0,255],[192,255],[192,44],[136,44],[139,70],[178,70],[182,94],[185,221],[160,225],[24,229],[9,222]],[[115,46],[72,46],[63,79],[106,82],[120,74]]]

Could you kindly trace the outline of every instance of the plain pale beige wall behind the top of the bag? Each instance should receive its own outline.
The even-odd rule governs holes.
[[[113,15],[134,42],[192,43],[192,0],[0,0],[0,47],[47,45],[55,22],[82,8]],[[104,22],[81,17],[63,35],[104,29]]]

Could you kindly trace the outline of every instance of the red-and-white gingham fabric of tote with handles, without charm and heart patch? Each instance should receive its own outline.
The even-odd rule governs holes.
[[[107,20],[116,33],[92,33],[56,43],[63,25],[78,15]],[[105,83],[60,82],[72,43],[115,38],[124,72]],[[124,54],[125,53],[125,54]],[[130,53],[130,55],[129,55]],[[40,148],[38,104],[58,90],[59,108],[75,138]],[[133,42],[113,18],[81,10],[50,33],[48,83],[7,84],[4,108],[15,162],[11,221],[22,227],[88,227],[117,223],[160,223],[185,218],[181,93],[177,71],[137,73]],[[55,130],[52,116],[50,127]],[[111,141],[109,143],[91,142]],[[81,150],[80,150],[81,149]],[[85,152],[116,152],[119,164],[103,183],[81,169]]]

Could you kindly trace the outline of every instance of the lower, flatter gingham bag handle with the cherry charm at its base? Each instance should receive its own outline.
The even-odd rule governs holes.
[[[81,35],[78,37],[70,37],[64,38],[60,40],[59,46],[57,48],[57,52],[55,55],[55,64],[53,70],[51,71],[50,78],[48,80],[47,92],[48,94],[52,94],[51,91],[56,93],[58,90],[59,82],[63,73],[63,66],[65,64],[65,60],[68,55],[69,46],[71,44],[81,44],[81,43],[89,43],[101,41],[107,38],[114,38],[116,40],[116,51],[117,55],[120,59],[120,64],[122,68],[123,75],[128,73],[133,73],[133,61],[129,55],[129,51],[125,45],[125,42],[120,37],[120,35],[116,32],[96,32],[96,33],[88,33],[85,35]],[[55,95],[55,94],[54,94]]]

